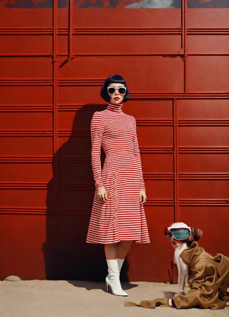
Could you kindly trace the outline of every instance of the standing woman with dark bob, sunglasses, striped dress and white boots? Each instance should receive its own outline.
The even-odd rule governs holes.
[[[140,153],[133,116],[122,111],[129,99],[124,78],[112,75],[104,82],[101,97],[109,102],[95,112],[91,122],[92,170],[96,192],[87,242],[104,244],[107,291],[127,296],[120,284],[120,270],[132,244],[149,243],[143,205],[146,202]],[[100,150],[105,152],[101,170]]]

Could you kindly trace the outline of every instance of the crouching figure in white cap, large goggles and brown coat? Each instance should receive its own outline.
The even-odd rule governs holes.
[[[229,301],[229,258],[217,253],[214,257],[201,248],[197,241],[202,231],[185,223],[173,223],[167,228],[170,243],[175,249],[178,268],[178,294],[172,298],[141,301],[139,305],[125,302],[125,306],[155,308],[171,306],[177,309],[222,309]],[[185,281],[190,290],[185,294]]]

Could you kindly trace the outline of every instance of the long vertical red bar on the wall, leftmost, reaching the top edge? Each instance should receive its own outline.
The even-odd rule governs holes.
[[[57,126],[57,110],[58,110],[58,74],[57,74],[57,10],[58,0],[53,0],[53,208],[57,211],[58,203],[58,126]]]

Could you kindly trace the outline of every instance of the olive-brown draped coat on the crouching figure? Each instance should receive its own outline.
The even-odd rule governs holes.
[[[226,292],[229,286],[229,258],[211,254],[193,242],[189,249],[184,250],[180,257],[188,264],[188,285],[190,290],[185,295],[172,298],[177,309],[211,308],[222,309],[229,301]],[[139,305],[125,302],[125,306],[141,306],[155,308],[168,306],[167,298],[141,301]]]

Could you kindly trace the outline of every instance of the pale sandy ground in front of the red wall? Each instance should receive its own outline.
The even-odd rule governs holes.
[[[1,317],[226,317],[229,307],[221,310],[170,307],[145,309],[124,307],[125,301],[170,297],[176,285],[164,283],[122,283],[128,297],[105,291],[105,283],[89,281],[1,281]]]

